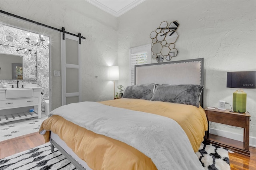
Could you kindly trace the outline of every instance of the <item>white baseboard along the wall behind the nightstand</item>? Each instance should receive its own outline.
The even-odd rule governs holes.
[[[228,132],[216,128],[210,128],[210,134],[215,134],[218,136],[238,140],[241,142],[244,140],[244,136],[242,134]],[[256,148],[256,137],[249,136],[249,146]]]

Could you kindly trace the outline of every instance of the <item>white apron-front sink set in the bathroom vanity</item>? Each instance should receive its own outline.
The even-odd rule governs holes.
[[[33,89],[6,89],[6,99],[33,97]]]

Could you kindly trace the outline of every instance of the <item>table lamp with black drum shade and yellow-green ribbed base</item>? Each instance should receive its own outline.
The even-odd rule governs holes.
[[[238,113],[245,113],[246,93],[242,89],[256,89],[256,71],[228,72],[227,87],[238,88],[233,93],[233,110]]]

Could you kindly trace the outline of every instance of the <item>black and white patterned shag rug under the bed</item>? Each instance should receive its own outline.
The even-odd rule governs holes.
[[[228,150],[202,143],[196,152],[206,170],[230,170]],[[51,152],[50,143],[0,159],[0,170],[75,170],[76,168],[57,150]]]

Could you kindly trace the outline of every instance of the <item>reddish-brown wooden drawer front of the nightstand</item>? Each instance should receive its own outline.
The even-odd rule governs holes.
[[[246,127],[246,117],[243,115],[227,114],[216,111],[207,111],[208,121],[231,125],[235,127]]]

